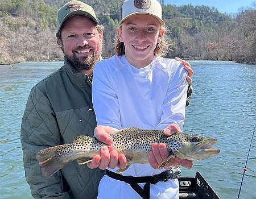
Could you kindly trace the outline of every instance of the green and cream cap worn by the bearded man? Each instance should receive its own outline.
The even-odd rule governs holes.
[[[66,3],[63,7],[61,7],[58,10],[58,13],[57,13],[58,30],[57,30],[57,32],[60,31],[61,26],[67,19],[69,19],[69,18],[71,18],[71,16],[75,16],[75,15],[87,16],[88,18],[92,19],[93,22],[95,22],[98,25],[97,16],[96,16],[93,8],[84,2],[73,0],[73,1],[69,1],[68,3]]]

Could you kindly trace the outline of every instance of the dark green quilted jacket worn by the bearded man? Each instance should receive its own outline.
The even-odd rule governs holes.
[[[34,198],[96,198],[104,171],[69,163],[49,179],[40,172],[35,153],[72,143],[77,135],[93,136],[96,118],[92,82],[76,72],[64,57],[64,66],[36,84],[28,97],[20,139],[25,176]]]

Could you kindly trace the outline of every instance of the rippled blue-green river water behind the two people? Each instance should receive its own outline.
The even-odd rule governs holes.
[[[195,72],[184,131],[213,136],[219,155],[195,161],[183,176],[199,171],[220,198],[236,198],[256,122],[256,65],[225,61],[190,61]],[[23,63],[0,67],[1,198],[32,198],[24,179],[20,122],[30,89],[63,63]],[[16,74],[19,74],[18,76]],[[241,198],[256,198],[255,137]]]

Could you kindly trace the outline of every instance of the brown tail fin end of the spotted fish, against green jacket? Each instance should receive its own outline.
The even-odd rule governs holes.
[[[36,152],[36,159],[38,159],[41,167],[41,173],[46,179],[72,161],[72,155],[70,153],[61,151],[61,148],[67,146],[69,146],[69,144],[49,147]]]

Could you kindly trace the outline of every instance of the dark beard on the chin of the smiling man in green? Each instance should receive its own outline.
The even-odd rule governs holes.
[[[77,57],[75,54],[73,56],[73,59],[69,59],[68,57],[67,59],[77,72],[81,72],[89,71],[90,69],[94,68],[94,65],[100,60],[100,57],[97,56],[95,51],[93,50],[92,55],[81,57],[81,59],[79,59],[79,57]]]

